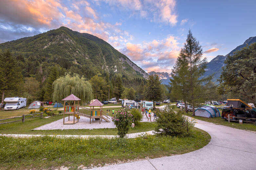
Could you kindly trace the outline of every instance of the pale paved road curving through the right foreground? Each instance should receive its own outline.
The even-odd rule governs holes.
[[[94,170],[255,170],[256,133],[197,121],[211,135],[203,148],[183,155],[93,168]]]

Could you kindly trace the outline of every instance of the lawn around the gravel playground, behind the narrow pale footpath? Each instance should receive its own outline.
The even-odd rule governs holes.
[[[63,129],[63,130],[32,130],[53,121],[63,118],[63,115],[50,118],[31,118],[26,119],[24,123],[13,122],[0,125],[0,133],[2,134],[61,134],[61,135],[117,135],[116,128],[102,129]],[[17,118],[18,119],[18,118]],[[130,128],[128,133],[137,133],[143,131],[154,130],[156,124],[149,122],[140,122],[138,126]]]

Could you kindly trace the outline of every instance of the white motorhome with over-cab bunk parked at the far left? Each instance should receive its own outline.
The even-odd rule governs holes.
[[[7,97],[4,110],[18,110],[27,106],[27,98],[22,97]]]

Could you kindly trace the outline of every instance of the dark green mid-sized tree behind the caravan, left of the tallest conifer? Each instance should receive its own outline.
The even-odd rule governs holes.
[[[150,75],[147,79],[145,95],[148,100],[152,100],[155,108],[155,102],[162,99],[163,89],[158,75]]]

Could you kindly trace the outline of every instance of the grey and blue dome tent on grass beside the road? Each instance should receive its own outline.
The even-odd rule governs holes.
[[[214,106],[203,106],[195,111],[195,116],[221,117],[220,111]]]

